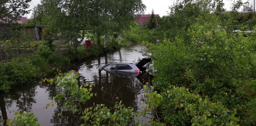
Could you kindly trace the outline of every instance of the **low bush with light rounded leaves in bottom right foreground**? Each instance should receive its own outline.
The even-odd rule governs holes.
[[[164,120],[176,125],[237,125],[240,117],[238,109],[228,110],[221,102],[213,103],[204,96],[189,91],[185,87],[171,86],[163,92]],[[166,109],[168,108],[168,109]]]

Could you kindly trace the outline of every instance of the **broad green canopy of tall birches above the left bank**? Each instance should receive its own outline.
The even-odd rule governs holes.
[[[90,30],[100,36],[120,32],[129,28],[136,13],[143,13],[146,8],[141,0],[42,0],[57,5],[42,4],[47,11],[48,24],[56,24],[51,29],[70,35],[73,39],[74,51],[79,42],[77,38],[84,37],[85,30]],[[42,3],[42,2],[41,2]],[[61,19],[61,20],[60,20]],[[43,21],[44,22],[44,21]],[[58,28],[56,28],[58,27]],[[82,36],[80,35],[82,30]],[[83,39],[82,39],[83,40]],[[100,41],[98,41],[100,43]]]

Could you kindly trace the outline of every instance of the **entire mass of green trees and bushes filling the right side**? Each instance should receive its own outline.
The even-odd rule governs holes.
[[[224,5],[216,2],[217,10]],[[145,55],[154,60],[154,85],[163,96],[160,118],[167,124],[256,124],[256,33],[231,32],[256,30],[254,18],[239,21],[242,4],[236,1],[231,12],[210,14],[213,4],[177,2],[152,31],[159,42],[144,42]]]

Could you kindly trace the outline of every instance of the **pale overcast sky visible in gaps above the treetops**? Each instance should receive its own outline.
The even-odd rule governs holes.
[[[147,6],[147,10],[145,11],[145,14],[151,14],[152,9],[154,9],[155,14],[159,14],[160,17],[167,15],[167,11],[169,11],[169,6],[173,4],[175,0],[142,0],[143,3]],[[232,0],[223,0],[225,3],[225,8],[227,10],[230,10],[231,4],[234,2]],[[242,0],[243,2],[246,2],[247,0]],[[253,6],[253,0],[249,0],[250,5]],[[31,0],[29,3],[30,8],[33,9],[34,6],[40,3],[40,0]],[[27,17],[31,17],[32,11],[27,14]]]

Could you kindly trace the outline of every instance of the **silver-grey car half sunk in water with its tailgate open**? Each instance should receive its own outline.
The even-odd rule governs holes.
[[[148,62],[151,62],[150,58],[141,59],[141,61],[137,64],[134,63],[109,63],[104,67],[101,67],[101,70],[105,70],[109,73],[116,73],[121,75],[133,75],[140,74],[145,71],[147,68],[143,67]],[[133,75],[134,76],[134,75]]]

